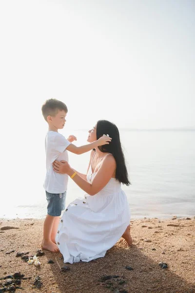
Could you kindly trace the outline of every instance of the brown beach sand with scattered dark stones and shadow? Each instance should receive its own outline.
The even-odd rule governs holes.
[[[42,228],[43,220],[38,219],[0,220],[0,292],[5,281],[14,281],[3,278],[15,272],[24,274],[21,284],[4,288],[18,286],[22,290],[16,292],[23,293],[195,292],[194,217],[131,221],[132,247],[120,239],[105,257],[89,263],[64,264],[60,253],[44,251],[40,266],[28,265],[16,254],[35,255],[41,249]],[[162,269],[160,262],[168,268]],[[70,270],[61,272],[64,265]],[[34,285],[38,276],[40,288]]]

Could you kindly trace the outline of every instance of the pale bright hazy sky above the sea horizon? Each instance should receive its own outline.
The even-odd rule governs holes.
[[[44,132],[41,105],[67,127],[195,127],[195,1],[0,1],[6,129]]]

